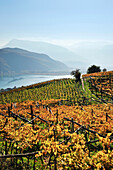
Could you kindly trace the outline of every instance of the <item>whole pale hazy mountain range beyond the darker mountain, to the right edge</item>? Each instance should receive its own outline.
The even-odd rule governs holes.
[[[86,72],[91,65],[100,66],[101,69],[113,69],[113,44],[111,42],[80,41],[65,48],[47,42],[14,39],[5,47],[18,47],[44,53],[52,59],[63,62],[71,69],[80,69],[81,72]]]

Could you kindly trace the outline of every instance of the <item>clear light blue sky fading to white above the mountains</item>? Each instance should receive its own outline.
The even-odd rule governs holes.
[[[113,41],[113,0],[0,0],[0,45],[11,39]]]

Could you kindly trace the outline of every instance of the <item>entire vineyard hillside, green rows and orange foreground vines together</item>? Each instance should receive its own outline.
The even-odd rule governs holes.
[[[112,86],[106,73],[1,93],[0,169],[112,170]]]

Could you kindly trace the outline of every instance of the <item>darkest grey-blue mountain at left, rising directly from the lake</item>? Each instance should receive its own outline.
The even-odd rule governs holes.
[[[46,54],[30,52],[19,48],[0,49],[0,72],[51,73],[65,72],[68,67]]]

